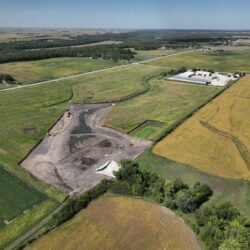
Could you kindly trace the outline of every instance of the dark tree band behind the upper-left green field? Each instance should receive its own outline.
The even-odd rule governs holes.
[[[0,63],[33,61],[55,57],[93,57],[103,58],[113,61],[131,60],[134,52],[130,49],[123,49],[118,46],[93,46],[83,48],[63,48],[63,49],[40,49],[35,51],[15,50],[1,51]]]

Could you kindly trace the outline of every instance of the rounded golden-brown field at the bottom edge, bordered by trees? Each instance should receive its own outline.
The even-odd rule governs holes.
[[[127,197],[102,197],[27,249],[200,249],[172,211]]]

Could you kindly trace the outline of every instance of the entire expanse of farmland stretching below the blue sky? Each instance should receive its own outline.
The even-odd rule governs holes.
[[[0,249],[248,244],[249,48],[234,32],[8,32]]]

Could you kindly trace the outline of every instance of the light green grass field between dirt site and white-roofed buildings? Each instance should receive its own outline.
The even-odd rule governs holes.
[[[146,133],[144,127],[142,132],[136,130],[135,133],[139,137],[154,139],[221,90],[213,86],[180,84],[164,79],[154,79],[149,84],[150,90],[145,95],[113,107],[105,125],[127,133],[147,120],[155,120],[163,123],[155,128],[157,133],[149,133],[148,129]]]

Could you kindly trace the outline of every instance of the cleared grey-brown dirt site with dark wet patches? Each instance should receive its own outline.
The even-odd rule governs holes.
[[[107,168],[135,159],[152,144],[102,127],[110,104],[70,105],[59,122],[22,162],[32,175],[58,189],[80,193],[112,176]],[[109,164],[112,163],[112,164]],[[106,167],[106,165],[108,165]],[[106,170],[97,171],[97,169]]]

